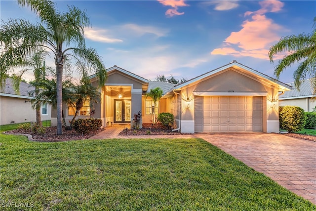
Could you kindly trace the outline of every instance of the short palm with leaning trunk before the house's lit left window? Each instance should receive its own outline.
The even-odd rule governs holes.
[[[73,104],[76,106],[76,113],[70,122],[70,127],[72,128],[73,123],[76,119],[76,117],[79,115],[80,109],[83,107],[83,103],[86,100],[89,100],[90,105],[93,104],[93,102],[99,102],[100,101],[100,92],[98,89],[90,83],[90,80],[88,78],[83,78],[81,80],[81,84],[74,87],[75,93],[73,100],[69,100],[70,104]]]

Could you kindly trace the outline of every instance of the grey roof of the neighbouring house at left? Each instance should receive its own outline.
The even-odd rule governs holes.
[[[5,80],[5,85],[1,87],[0,96],[32,99],[33,96],[28,92],[34,89],[34,86],[25,82],[20,82],[19,92],[16,92],[13,88],[13,79],[7,78]]]

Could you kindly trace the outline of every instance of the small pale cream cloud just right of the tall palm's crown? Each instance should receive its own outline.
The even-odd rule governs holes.
[[[107,33],[108,31],[105,29],[92,29],[92,28],[84,29],[84,36],[85,38],[89,40],[96,41],[96,42],[107,42],[107,43],[123,42],[120,39],[109,38]]]

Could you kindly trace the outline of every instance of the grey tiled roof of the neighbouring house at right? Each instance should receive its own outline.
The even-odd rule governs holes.
[[[300,90],[298,90],[294,82],[288,83],[288,85],[293,86],[294,89],[290,91],[285,91],[284,94],[279,96],[280,100],[285,99],[296,99],[296,98],[306,98],[306,97],[313,97],[313,81],[312,79],[305,80],[301,86]]]

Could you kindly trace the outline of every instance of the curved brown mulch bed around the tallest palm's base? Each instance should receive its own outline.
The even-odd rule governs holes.
[[[70,141],[70,140],[81,140],[81,139],[88,139],[92,137],[95,134],[98,134],[99,132],[103,131],[104,128],[98,129],[96,131],[93,131],[89,134],[79,134],[76,132],[76,130],[65,130],[63,128],[63,134],[62,135],[56,135],[57,127],[46,127],[45,134],[41,135],[38,133],[35,133],[33,131],[25,132],[23,129],[14,129],[10,131],[6,131],[5,134],[30,134],[32,135],[33,140],[40,141],[40,142],[57,142],[57,141]]]

